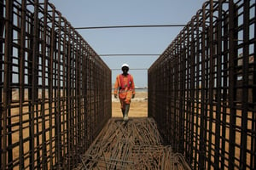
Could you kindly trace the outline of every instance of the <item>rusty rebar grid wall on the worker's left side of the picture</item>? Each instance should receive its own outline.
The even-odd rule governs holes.
[[[47,0],[0,0],[1,169],[70,169],[111,117],[111,71]]]

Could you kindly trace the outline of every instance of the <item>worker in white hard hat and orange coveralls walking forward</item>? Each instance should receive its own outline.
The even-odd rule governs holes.
[[[128,74],[129,65],[124,64],[121,67],[123,73],[116,77],[114,83],[114,98],[117,98],[119,93],[119,100],[121,103],[121,111],[123,113],[124,122],[128,121],[128,112],[130,109],[131,99],[135,96],[134,82],[131,74]]]

